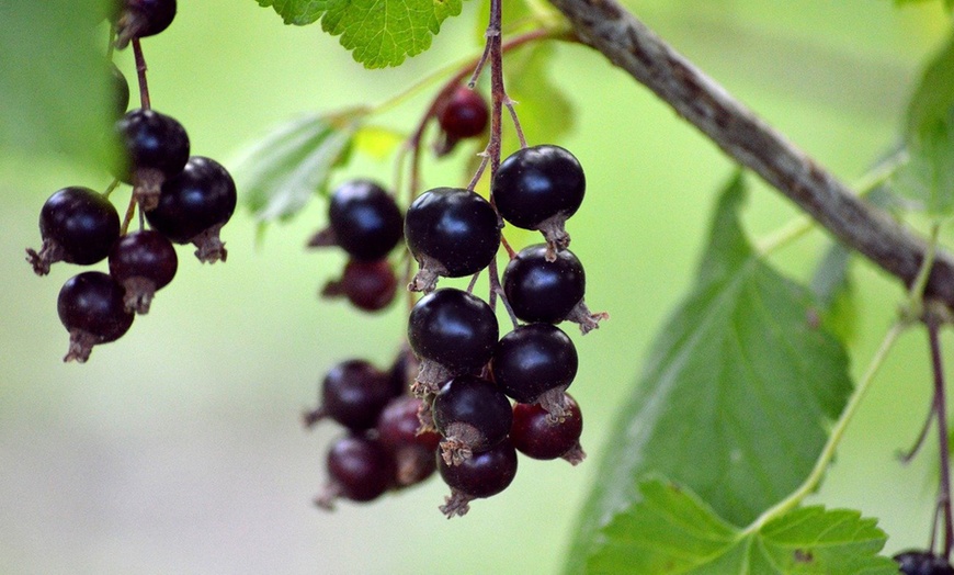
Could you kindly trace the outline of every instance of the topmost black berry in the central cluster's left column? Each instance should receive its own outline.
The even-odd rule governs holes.
[[[486,268],[500,246],[500,226],[478,194],[435,188],[408,207],[405,238],[421,266],[409,289],[430,292],[440,275],[461,278]]]

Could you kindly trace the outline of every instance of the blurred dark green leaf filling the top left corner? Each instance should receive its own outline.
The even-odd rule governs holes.
[[[103,0],[0,0],[0,153],[112,164],[103,14]]]

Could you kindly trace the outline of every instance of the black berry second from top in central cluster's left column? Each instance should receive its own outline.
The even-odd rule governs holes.
[[[498,335],[497,316],[476,295],[445,288],[421,297],[408,318],[408,342],[422,360],[416,393],[436,393],[453,375],[480,371]]]

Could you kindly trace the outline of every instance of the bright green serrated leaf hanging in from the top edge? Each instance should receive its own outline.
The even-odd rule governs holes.
[[[321,20],[321,30],[341,36],[366,68],[398,66],[431,47],[447,16],[461,13],[463,0],[258,0],[286,24]]]

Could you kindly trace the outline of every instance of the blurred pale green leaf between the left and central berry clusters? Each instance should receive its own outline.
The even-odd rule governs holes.
[[[328,180],[348,158],[365,109],[309,115],[288,122],[253,144],[237,162],[236,179],[245,202],[261,223],[286,219],[315,194],[328,193]]]

